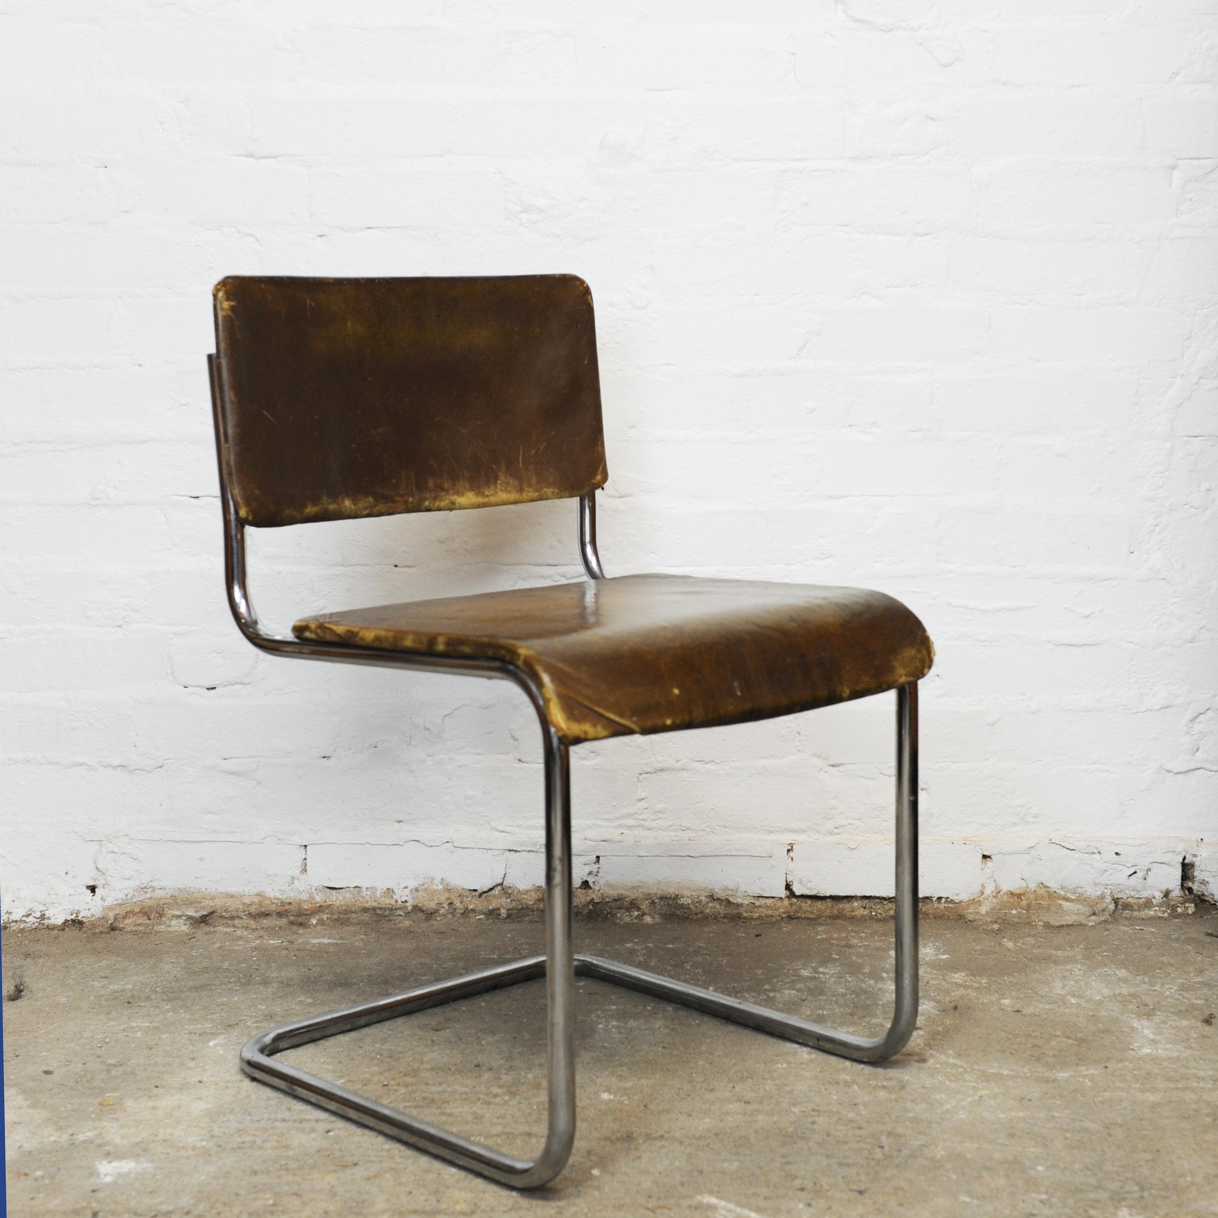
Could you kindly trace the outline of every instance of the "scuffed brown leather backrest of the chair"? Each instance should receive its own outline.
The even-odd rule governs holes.
[[[216,285],[222,470],[247,525],[603,486],[592,294],[575,275]]]

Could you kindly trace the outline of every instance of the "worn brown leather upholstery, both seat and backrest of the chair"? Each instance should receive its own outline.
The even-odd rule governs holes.
[[[233,276],[216,286],[220,470],[247,525],[523,503],[605,481],[574,275]],[[356,609],[295,633],[493,659],[568,744],[810,710],[917,681],[922,624],[860,588],[633,575]]]

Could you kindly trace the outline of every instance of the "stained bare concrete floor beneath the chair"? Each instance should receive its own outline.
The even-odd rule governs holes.
[[[536,951],[535,914],[11,931],[11,1212],[1218,1214],[1218,916],[1091,922],[926,917],[920,1030],[882,1067],[580,982],[579,1135],[538,1194],[238,1069],[267,1026]],[[889,935],[876,917],[619,910],[577,926],[585,950],[860,1030],[884,1013]],[[542,1010],[531,984],[290,1056],[527,1153]]]

